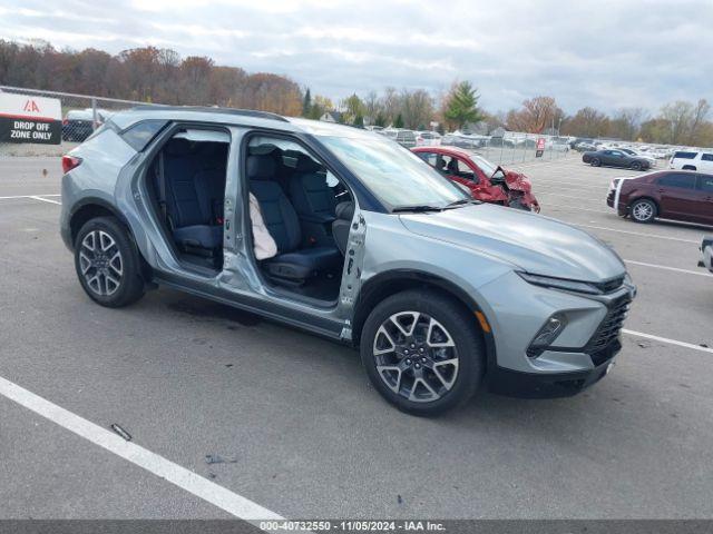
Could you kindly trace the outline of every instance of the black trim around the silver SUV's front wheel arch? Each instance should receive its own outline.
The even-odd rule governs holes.
[[[441,293],[457,300],[466,309],[468,309],[468,312],[473,314],[473,323],[477,327],[477,330],[482,336],[486,346],[486,372],[488,369],[495,368],[495,338],[492,336],[491,327],[489,326],[492,325],[492,322],[481,309],[479,304],[470,295],[468,295],[468,293],[466,293],[452,281],[447,280],[446,278],[441,278],[440,276],[420,270],[390,270],[387,273],[381,273],[364,283],[361,290],[359,291],[356,304],[354,306],[354,318],[352,320],[352,343],[355,346],[359,345],[364,322],[367,320],[367,317],[369,317],[370,312],[374,308],[374,306],[377,306],[377,304],[392,295],[414,288],[432,289]],[[485,317],[488,324],[487,330],[482,328],[478,317],[476,316],[476,313],[482,314],[482,317]]]

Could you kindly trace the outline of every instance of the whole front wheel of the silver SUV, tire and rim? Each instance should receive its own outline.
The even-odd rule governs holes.
[[[381,301],[364,323],[360,352],[377,390],[413,415],[438,415],[465,404],[485,372],[485,347],[472,314],[430,290],[407,290]]]

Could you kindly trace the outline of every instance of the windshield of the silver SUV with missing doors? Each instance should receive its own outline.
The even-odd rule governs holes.
[[[321,141],[389,208],[442,208],[470,198],[410,150],[381,139],[322,137]]]

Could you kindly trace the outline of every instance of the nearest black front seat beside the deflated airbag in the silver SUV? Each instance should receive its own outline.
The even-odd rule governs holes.
[[[302,243],[300,219],[292,204],[274,180],[275,161],[270,156],[247,157],[250,189],[263,215],[265,226],[277,245],[277,256],[263,261],[275,278],[304,281],[319,271],[336,269],[342,258],[336,247],[299,249]]]

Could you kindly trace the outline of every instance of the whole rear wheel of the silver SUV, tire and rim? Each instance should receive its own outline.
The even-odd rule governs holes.
[[[101,306],[119,308],[144,296],[138,249],[114,217],[97,217],[81,227],[75,269],[85,293]]]

